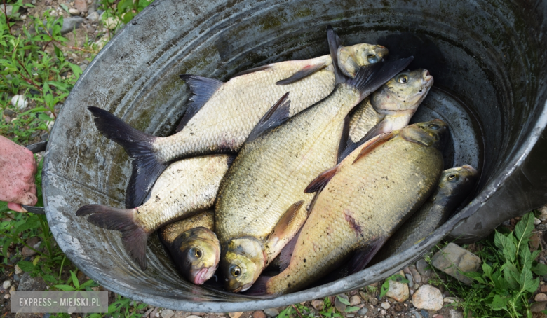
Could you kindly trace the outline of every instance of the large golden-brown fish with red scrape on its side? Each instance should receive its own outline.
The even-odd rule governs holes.
[[[328,170],[335,174],[318,193],[288,268],[257,289],[272,295],[298,291],[353,251],[363,251],[354,262],[364,267],[437,185],[447,130],[441,120],[433,120],[382,134]]]

